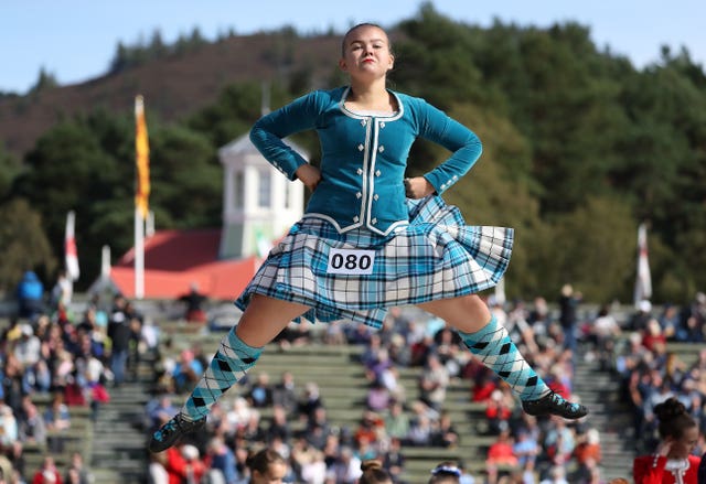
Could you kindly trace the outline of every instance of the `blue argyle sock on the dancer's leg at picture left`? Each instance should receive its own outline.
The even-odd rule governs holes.
[[[255,366],[255,362],[263,353],[261,347],[254,348],[245,344],[235,334],[235,327],[233,326],[228,334],[223,336],[208,368],[182,407],[181,413],[188,420],[205,417],[216,400]]]

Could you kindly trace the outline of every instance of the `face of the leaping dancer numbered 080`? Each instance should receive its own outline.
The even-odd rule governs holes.
[[[362,25],[349,32],[343,40],[343,56],[339,66],[354,79],[385,77],[394,62],[387,34],[377,26]]]

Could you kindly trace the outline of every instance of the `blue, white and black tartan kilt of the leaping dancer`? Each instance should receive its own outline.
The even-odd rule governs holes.
[[[310,306],[315,322],[351,320],[381,327],[391,306],[472,294],[494,287],[512,254],[512,228],[466,225],[440,196],[408,200],[409,225],[383,236],[365,228],[340,234],[304,217],[270,250],[235,301],[255,293]],[[375,251],[370,275],[328,273],[331,248]]]

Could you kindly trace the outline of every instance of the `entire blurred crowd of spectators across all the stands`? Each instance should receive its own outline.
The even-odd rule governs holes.
[[[28,277],[34,283],[32,279]],[[618,318],[609,305],[578,314],[580,294],[570,288],[563,289],[561,298],[574,299],[560,299],[555,311],[542,298],[531,304],[489,301],[555,391],[580,397],[571,395],[576,361],[595,358],[622,384],[622,396],[634,416],[635,451],[653,445],[652,409],[672,396],[706,426],[706,351],[687,364],[668,353],[666,345],[704,341],[706,295],[698,293],[692,304],[666,305],[659,312],[645,301],[629,318]],[[8,321],[0,341],[0,471],[13,476],[9,482],[19,483],[33,481],[45,473],[44,467],[57,467],[51,459],[40,469],[28,469],[24,449],[39,445],[47,455],[65,455],[67,440],[62,437],[71,433],[72,407],[87,407],[96,418],[110,389],[133,377],[140,354],[171,355],[158,337],[159,327],[120,295],[108,306],[89,303],[77,314],[61,294],[45,299],[44,304],[26,303],[24,311],[29,312]],[[537,419],[522,412],[507,385],[477,362],[442,321],[393,309],[379,331],[345,322],[325,325],[323,331],[315,337],[327,344],[361,348],[359,364],[370,388],[356,426],[340,428],[329,421],[315,381],[295,381],[290,372],[274,376],[275,380],[256,367],[246,384],[229,394],[233,398],[214,407],[208,432],[153,455],[150,473],[246,482],[248,450],[267,445],[286,456],[298,482],[353,483],[362,461],[379,459],[395,482],[403,483],[406,448],[452,449],[468,438],[459,429],[468,428],[469,420],[446,408],[447,401],[462,395],[481,409],[478,415],[483,418],[471,423],[475,434],[490,442],[483,448],[483,472],[467,474],[467,482],[602,482],[600,434],[588,424],[590,420]],[[286,349],[308,344],[312,337],[308,325],[292,324],[276,341]],[[179,410],[174,401],[181,402],[197,381],[207,356],[194,344],[161,361],[158,392],[146,409],[147,432]],[[411,390],[400,381],[400,373],[409,367],[419,368]],[[459,392],[459,388],[467,390]],[[697,452],[704,450],[702,438]],[[63,482],[81,482],[69,476],[71,470],[77,474],[78,464],[72,462],[79,458],[62,458],[57,473]],[[86,472],[81,464],[81,475],[85,477]]]

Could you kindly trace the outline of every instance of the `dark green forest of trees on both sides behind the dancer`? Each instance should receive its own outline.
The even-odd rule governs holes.
[[[510,298],[555,297],[571,282],[586,300],[630,302],[641,222],[650,227],[653,301],[684,303],[706,289],[706,75],[687,51],[665,47],[637,69],[599,51],[577,23],[480,28],[429,4],[392,39],[391,88],[425,97],[483,140],[479,163],[445,197],[469,224],[516,229]],[[192,40],[204,42],[197,32]],[[118,51],[116,72],[154,55]],[[291,72],[274,79],[272,107],[312,88]],[[324,87],[344,82],[331,72]],[[158,229],[221,225],[217,149],[260,115],[260,80],[228,86],[178,122],[162,122],[148,103]],[[54,125],[22,160],[0,147],[0,290],[12,291],[28,268],[55,277],[69,209],[78,289],[98,276],[103,245],[114,257],[131,247],[135,165],[125,160],[135,159],[133,136],[129,112],[95,109]],[[315,136],[297,141],[315,163]],[[446,155],[418,143],[409,174]]]

